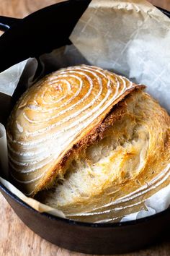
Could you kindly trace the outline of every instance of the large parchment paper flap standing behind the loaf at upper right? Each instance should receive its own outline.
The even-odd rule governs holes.
[[[170,19],[148,1],[93,0],[70,39],[90,64],[147,85],[170,111]]]

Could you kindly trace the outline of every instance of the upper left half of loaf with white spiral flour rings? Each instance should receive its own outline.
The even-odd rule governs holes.
[[[53,72],[27,90],[7,129],[12,176],[24,192],[34,194],[82,132],[135,86],[125,77],[83,65]]]

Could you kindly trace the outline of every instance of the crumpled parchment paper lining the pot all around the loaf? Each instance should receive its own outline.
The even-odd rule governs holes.
[[[76,64],[92,64],[123,74],[147,85],[148,92],[170,111],[170,20],[147,1],[93,0],[70,37],[72,46],[40,56],[41,73],[35,77],[36,59],[27,59],[0,74],[0,92],[13,95],[26,90],[44,74]],[[0,98],[0,114],[4,111]],[[7,179],[5,128],[0,127],[0,163]],[[2,184],[28,205],[55,216],[64,214],[26,197],[12,184]],[[145,202],[146,210],[122,221],[143,218],[165,210],[170,204],[170,185]]]

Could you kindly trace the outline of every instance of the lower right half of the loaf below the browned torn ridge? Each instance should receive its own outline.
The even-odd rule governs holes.
[[[112,222],[143,209],[144,200],[169,184],[169,115],[143,90],[133,91],[65,172],[65,179],[37,198],[68,218]]]

